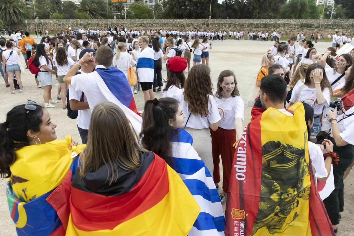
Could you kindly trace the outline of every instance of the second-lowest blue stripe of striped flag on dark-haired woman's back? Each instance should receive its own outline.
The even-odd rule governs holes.
[[[199,179],[184,179],[183,182],[192,195],[200,195],[210,202],[220,202],[218,190],[209,189],[208,186]]]

